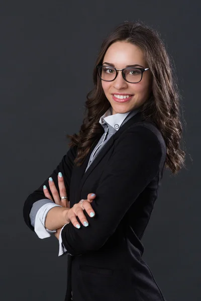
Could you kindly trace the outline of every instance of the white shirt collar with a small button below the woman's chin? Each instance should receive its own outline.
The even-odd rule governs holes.
[[[99,119],[99,123],[104,127],[104,125],[106,123],[108,123],[109,125],[111,125],[113,128],[115,128],[116,130],[118,130],[120,128],[120,126],[122,125],[123,121],[125,120],[125,118],[129,115],[129,117],[131,118],[132,116],[134,116],[138,111],[140,110],[140,108],[134,109],[132,111],[126,112],[126,113],[117,113],[112,115],[112,106],[109,107],[109,109],[105,112],[104,115],[102,115]],[[130,114],[131,113],[131,114]],[[130,119],[129,118],[129,119]]]

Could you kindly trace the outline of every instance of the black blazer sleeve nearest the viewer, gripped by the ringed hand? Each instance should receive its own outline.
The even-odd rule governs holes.
[[[74,256],[101,248],[115,232],[131,205],[159,172],[162,157],[157,134],[143,125],[132,126],[115,141],[91,203],[95,216],[84,211],[88,227],[64,226],[65,248]],[[101,164],[101,163],[100,163]],[[82,198],[87,198],[84,196]]]

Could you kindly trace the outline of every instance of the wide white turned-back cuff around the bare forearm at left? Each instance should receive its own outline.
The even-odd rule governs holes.
[[[47,213],[50,209],[52,209],[56,206],[62,207],[57,204],[48,203],[48,204],[43,205],[38,210],[38,212],[36,214],[36,219],[35,219],[34,231],[36,232],[36,234],[38,235],[39,238],[50,237],[51,236],[50,233],[56,232],[56,230],[48,230],[45,228],[45,219],[46,219]]]

